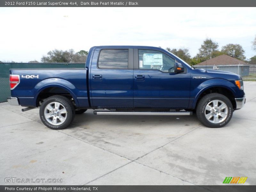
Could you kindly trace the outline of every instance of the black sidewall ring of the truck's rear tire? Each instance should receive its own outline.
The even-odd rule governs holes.
[[[52,103],[52,102],[59,102],[66,108],[67,118],[66,118],[65,122],[60,125],[52,125],[44,117],[44,109],[46,108],[46,106],[49,103]],[[73,113],[73,110],[72,110],[72,107],[70,106],[70,104],[66,100],[59,98],[59,97],[55,97],[55,98],[49,97],[49,98],[45,99],[39,109],[40,118],[41,118],[41,121],[44,123],[44,125],[46,125],[47,127],[51,128],[51,129],[55,129],[55,130],[65,129],[72,121],[72,117],[73,117],[72,113]]]

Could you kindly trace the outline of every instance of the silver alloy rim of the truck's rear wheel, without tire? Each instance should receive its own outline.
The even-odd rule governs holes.
[[[60,125],[67,119],[67,110],[59,102],[49,103],[44,108],[44,117],[52,125]]]

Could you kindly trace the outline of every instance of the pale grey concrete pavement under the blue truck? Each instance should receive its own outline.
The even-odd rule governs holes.
[[[77,115],[65,130],[41,123],[39,109],[0,104],[0,185],[6,177],[62,179],[51,185],[256,185],[256,82],[223,128],[193,116]],[[37,184],[37,183],[27,183]]]

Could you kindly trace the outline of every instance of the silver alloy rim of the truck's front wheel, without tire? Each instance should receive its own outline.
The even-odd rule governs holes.
[[[204,116],[211,123],[221,123],[228,116],[228,106],[221,100],[212,100],[206,105]]]

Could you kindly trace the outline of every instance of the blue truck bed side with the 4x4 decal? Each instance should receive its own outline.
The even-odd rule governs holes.
[[[36,98],[41,90],[56,87],[70,93],[76,105],[89,107],[86,68],[10,69],[10,74],[20,76],[19,86],[11,92],[21,106],[38,107]]]

